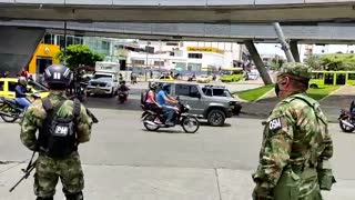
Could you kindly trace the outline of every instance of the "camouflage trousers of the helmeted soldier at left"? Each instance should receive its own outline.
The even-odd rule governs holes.
[[[83,172],[77,151],[64,159],[53,159],[40,153],[34,173],[34,194],[41,198],[53,197],[59,178],[65,196],[83,190]]]

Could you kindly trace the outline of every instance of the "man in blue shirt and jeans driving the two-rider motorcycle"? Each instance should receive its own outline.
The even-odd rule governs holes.
[[[164,112],[164,118],[165,120],[165,124],[166,126],[174,126],[174,123],[172,122],[173,118],[174,118],[174,108],[169,106],[166,102],[172,103],[172,104],[176,104],[178,101],[169,96],[169,84],[163,84],[162,90],[158,93],[156,96],[156,101],[160,106],[162,106],[163,112]]]

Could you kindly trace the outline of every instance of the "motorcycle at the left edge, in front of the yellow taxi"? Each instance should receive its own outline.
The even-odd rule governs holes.
[[[33,100],[41,99],[39,93],[32,93],[31,98]],[[26,109],[21,109],[14,99],[6,99],[0,97],[0,117],[6,122],[14,122],[16,120],[22,118]]]

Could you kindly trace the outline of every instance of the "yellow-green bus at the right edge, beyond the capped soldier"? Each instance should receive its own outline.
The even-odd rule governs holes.
[[[310,88],[321,86],[355,86],[355,71],[312,71]]]

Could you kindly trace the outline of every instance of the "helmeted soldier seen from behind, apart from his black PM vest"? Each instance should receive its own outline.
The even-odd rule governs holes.
[[[53,106],[65,98],[65,88],[70,83],[71,72],[64,66],[50,66],[45,69],[44,79],[50,88],[49,100]],[[65,98],[67,99],[67,98]],[[70,117],[73,112],[73,101],[65,100],[58,109],[57,116]],[[21,122],[21,141],[32,151],[39,151],[36,132],[47,117],[42,101],[34,101],[26,111]],[[80,106],[77,138],[79,143],[90,140],[92,120],[85,108]],[[37,200],[53,200],[58,179],[61,179],[67,200],[82,200],[84,187],[83,172],[78,150],[63,159],[51,158],[42,151],[36,163],[34,194]]]

